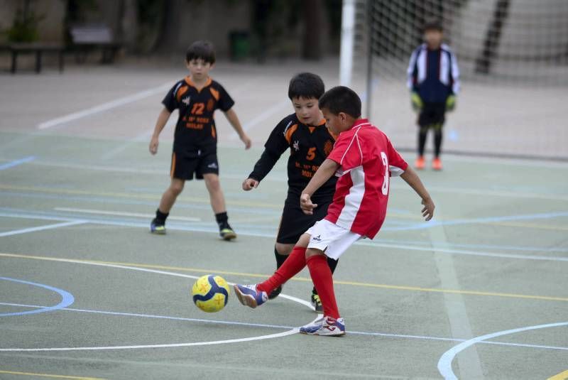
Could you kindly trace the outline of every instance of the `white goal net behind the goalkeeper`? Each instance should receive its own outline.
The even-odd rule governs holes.
[[[444,150],[568,159],[567,0],[356,1],[354,56],[367,60],[354,60],[354,85],[373,121],[415,148],[406,69],[431,19],[442,22],[463,89]]]

